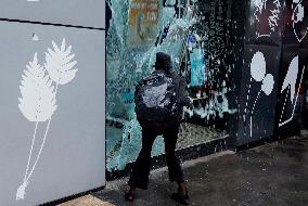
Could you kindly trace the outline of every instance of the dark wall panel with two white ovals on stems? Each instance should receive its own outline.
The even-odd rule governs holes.
[[[238,145],[273,134],[280,47],[245,46]]]

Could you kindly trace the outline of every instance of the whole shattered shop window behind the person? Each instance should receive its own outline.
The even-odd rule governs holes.
[[[171,56],[174,69],[185,77],[195,99],[184,110],[190,124],[181,125],[178,149],[226,136],[223,118],[235,112],[228,102],[233,68],[228,63],[230,5],[219,0],[108,0],[107,4],[112,11],[106,38],[107,170],[123,170],[139,154],[133,83],[153,72],[159,51]],[[163,153],[164,140],[158,137],[152,155]]]

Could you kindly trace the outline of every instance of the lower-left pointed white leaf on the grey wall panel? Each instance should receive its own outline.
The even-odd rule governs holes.
[[[49,76],[40,64],[37,53],[24,70],[20,87],[22,98],[18,107],[29,121],[46,121],[56,110],[55,91]]]

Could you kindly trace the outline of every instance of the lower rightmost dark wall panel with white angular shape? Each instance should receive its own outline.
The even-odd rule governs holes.
[[[283,47],[279,76],[277,128],[279,136],[299,133],[308,51]]]

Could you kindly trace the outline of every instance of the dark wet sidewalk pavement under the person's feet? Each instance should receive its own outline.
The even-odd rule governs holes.
[[[185,162],[191,205],[307,206],[308,136],[294,137],[239,153],[223,152]],[[167,168],[151,172],[147,191],[138,190],[133,203],[124,201],[127,178],[106,189],[61,206],[177,206]]]

